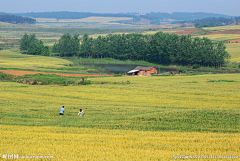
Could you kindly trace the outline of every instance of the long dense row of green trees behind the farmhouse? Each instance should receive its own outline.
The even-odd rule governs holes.
[[[78,43],[79,42],[79,43]],[[64,34],[53,46],[60,56],[144,60],[157,64],[221,66],[230,55],[223,42],[157,32],[154,35],[109,34],[96,39]]]

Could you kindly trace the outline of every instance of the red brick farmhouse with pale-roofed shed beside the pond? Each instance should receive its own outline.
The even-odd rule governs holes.
[[[157,69],[154,67],[137,66],[133,70],[128,72],[128,75],[149,76],[151,74],[157,74]]]

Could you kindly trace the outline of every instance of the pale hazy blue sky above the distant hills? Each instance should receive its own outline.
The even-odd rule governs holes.
[[[206,12],[240,16],[240,0],[0,0],[0,12]]]

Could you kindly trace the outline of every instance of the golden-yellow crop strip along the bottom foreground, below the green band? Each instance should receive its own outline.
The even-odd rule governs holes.
[[[53,160],[175,160],[239,154],[239,134],[0,125],[0,151]],[[197,160],[197,159],[194,159]],[[209,160],[209,159],[200,159]],[[231,159],[224,159],[231,160]]]

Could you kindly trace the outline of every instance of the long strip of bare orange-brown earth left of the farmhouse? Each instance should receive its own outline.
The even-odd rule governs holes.
[[[99,77],[99,76],[113,76],[113,75],[91,75],[91,74],[68,74],[68,73],[47,73],[47,72],[33,72],[33,71],[17,71],[17,70],[0,70],[0,72],[12,74],[12,75],[26,75],[26,74],[56,74],[66,77]]]

